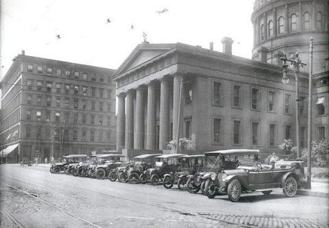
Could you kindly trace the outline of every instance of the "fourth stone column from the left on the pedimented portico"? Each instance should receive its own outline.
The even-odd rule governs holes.
[[[147,84],[146,149],[156,149],[156,85]]]

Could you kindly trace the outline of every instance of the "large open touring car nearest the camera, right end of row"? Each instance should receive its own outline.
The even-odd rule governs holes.
[[[287,197],[293,197],[300,188],[301,182],[306,181],[302,161],[260,164],[258,163],[260,152],[252,149],[230,149],[207,153],[219,153],[217,160],[221,160],[224,156],[231,161],[234,157],[233,162],[236,162],[236,168],[232,170],[219,168],[218,172],[211,173],[207,178],[205,191],[208,198],[213,198],[216,194],[228,194],[228,199],[236,202],[239,201],[243,191],[270,194],[272,190],[278,188],[282,188]]]

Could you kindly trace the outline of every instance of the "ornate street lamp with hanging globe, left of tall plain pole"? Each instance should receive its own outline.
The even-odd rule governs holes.
[[[282,83],[289,84],[289,77],[287,75],[288,65],[286,62],[290,62],[290,64],[295,69],[295,81],[296,81],[296,147],[297,147],[297,158],[300,158],[300,85],[299,85],[299,74],[300,74],[300,66],[306,66],[302,60],[300,60],[299,54],[295,53],[294,58],[289,60],[284,57],[280,58],[283,61],[282,66]]]

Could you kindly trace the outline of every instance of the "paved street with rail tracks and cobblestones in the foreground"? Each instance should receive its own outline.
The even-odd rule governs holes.
[[[208,199],[177,187],[131,185],[0,166],[1,227],[328,227],[321,197],[243,194]],[[19,224],[19,225],[17,225]]]

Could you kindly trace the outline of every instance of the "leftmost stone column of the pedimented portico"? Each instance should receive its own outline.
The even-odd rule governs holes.
[[[118,95],[118,114],[117,114],[117,151],[125,145],[125,94]]]

